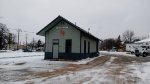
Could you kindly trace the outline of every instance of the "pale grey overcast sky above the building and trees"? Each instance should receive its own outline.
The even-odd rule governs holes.
[[[58,15],[100,39],[127,29],[150,35],[150,0],[0,0],[0,22],[8,28],[38,32]]]

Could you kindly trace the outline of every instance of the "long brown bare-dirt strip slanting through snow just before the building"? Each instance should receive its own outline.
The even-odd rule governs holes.
[[[56,69],[53,72],[36,73],[35,76],[36,77],[49,77],[49,78],[51,78],[51,77],[59,76],[62,74],[66,74],[68,72],[75,72],[75,71],[84,70],[84,69],[91,69],[93,67],[102,66],[110,58],[111,58],[110,56],[101,56],[101,57],[98,57],[98,58],[88,62],[87,64],[69,64],[66,67]]]

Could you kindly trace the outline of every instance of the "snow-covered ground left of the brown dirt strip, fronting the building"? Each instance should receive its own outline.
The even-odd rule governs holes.
[[[22,52],[21,50],[0,52],[0,82],[8,84],[24,79],[34,79],[35,77],[32,74],[36,72],[52,72],[68,64],[86,64],[92,60],[91,58],[80,61],[50,61],[43,59],[44,52]]]

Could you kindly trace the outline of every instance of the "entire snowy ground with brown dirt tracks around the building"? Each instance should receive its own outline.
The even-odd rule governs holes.
[[[101,51],[80,61],[43,60],[43,52],[0,53],[1,84],[150,84],[150,58]],[[107,56],[105,56],[107,55]]]

